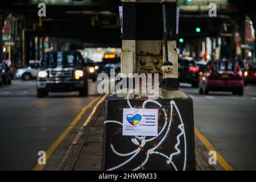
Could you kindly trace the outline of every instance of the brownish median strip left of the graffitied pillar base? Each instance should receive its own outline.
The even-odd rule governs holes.
[[[81,127],[58,170],[101,170],[104,102],[98,106],[91,121]]]

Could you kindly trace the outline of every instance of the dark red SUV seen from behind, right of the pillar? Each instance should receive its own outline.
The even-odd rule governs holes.
[[[199,93],[229,91],[243,95],[243,73],[237,61],[210,61],[200,76]]]

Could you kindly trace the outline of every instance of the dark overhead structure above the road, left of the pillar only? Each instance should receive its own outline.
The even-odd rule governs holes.
[[[75,38],[81,42],[121,47],[118,13],[121,1],[45,2],[46,17],[42,18],[38,16],[39,1],[0,2],[0,11],[23,17],[26,22],[23,28],[26,28],[30,36]]]

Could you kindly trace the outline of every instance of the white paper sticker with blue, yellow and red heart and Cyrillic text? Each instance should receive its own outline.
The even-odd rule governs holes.
[[[158,109],[123,109],[123,135],[157,136]]]

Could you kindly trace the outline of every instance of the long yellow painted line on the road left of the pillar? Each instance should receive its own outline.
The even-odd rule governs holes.
[[[46,151],[46,162],[49,159],[49,157],[52,155],[52,153],[56,150],[56,148],[59,146],[59,144],[67,137],[69,132],[73,129],[73,127],[76,125],[77,122],[81,119],[82,115],[88,110],[94,102],[99,100],[102,96],[98,96],[97,98],[94,98],[88,105],[82,108],[79,114],[77,114],[76,118],[72,121],[72,123],[63,131],[63,133],[60,135],[60,137],[49,147],[49,149]],[[37,164],[36,167],[33,169],[34,171],[42,171],[44,168],[44,164]]]

